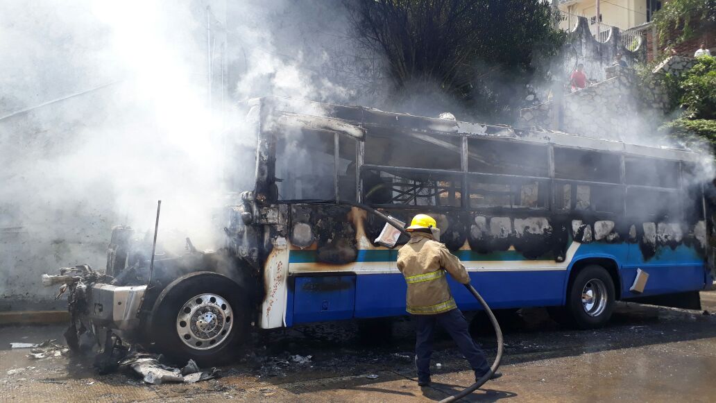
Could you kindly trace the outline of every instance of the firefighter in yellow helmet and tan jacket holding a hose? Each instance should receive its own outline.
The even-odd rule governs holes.
[[[470,283],[468,271],[460,259],[438,241],[440,233],[430,215],[415,215],[406,229],[411,233],[410,241],[398,251],[397,266],[407,283],[406,311],[415,321],[417,384],[421,387],[430,384],[435,324],[448,331],[458,344],[475,371],[475,379],[483,377],[490,366],[484,351],[470,336],[468,322],[455,304],[446,278],[450,273],[455,280],[467,284]],[[492,379],[501,376],[500,372],[495,372]]]

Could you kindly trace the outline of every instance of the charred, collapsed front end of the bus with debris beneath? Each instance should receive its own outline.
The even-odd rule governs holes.
[[[69,350],[77,354],[94,353],[93,364],[100,374],[122,370],[148,384],[193,383],[218,377],[220,372],[216,368],[202,371],[193,359],[186,361],[177,354],[160,354],[158,349],[153,349],[153,344],[162,335],[141,325],[150,321],[148,317],[158,314],[145,308],[156,307],[155,303],[162,297],[161,293],[150,292],[152,288],[163,290],[177,278],[195,273],[195,267],[231,272],[231,268],[223,266],[228,260],[222,258],[221,253],[196,251],[186,238],[188,253],[181,256],[160,253],[163,258],[155,262],[150,279],[147,256],[152,248],[147,238],[133,236],[135,231],[130,227],[113,228],[104,272],[84,264],[60,268],[59,276],[42,276],[44,286],[60,285],[57,298],[67,293],[71,321],[64,336]],[[200,313],[203,318],[211,317],[216,311],[211,297],[206,303]],[[200,328],[209,324],[211,320],[198,321],[192,326]],[[182,361],[186,364],[172,366]]]

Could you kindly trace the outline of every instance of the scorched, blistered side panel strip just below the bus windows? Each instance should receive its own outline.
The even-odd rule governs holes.
[[[374,243],[385,225],[374,215],[352,215],[351,208],[332,205],[293,205],[291,207],[291,243],[295,248],[315,251],[316,263],[346,264],[355,262],[359,245],[379,248]],[[404,222],[420,209],[391,209],[384,212]],[[430,213],[430,212],[428,212]],[[450,251],[469,249],[488,255],[515,251],[524,259],[563,261],[571,241],[582,244],[632,243],[639,247],[644,261],[659,255],[659,250],[681,246],[705,251],[705,223],[679,220],[642,221],[611,218],[594,213],[570,218],[566,214],[535,212],[530,215],[508,213],[486,214],[453,211],[430,213],[440,228],[442,243]],[[360,227],[360,228],[358,228]],[[405,244],[401,236],[396,248]],[[477,259],[479,260],[479,258]]]

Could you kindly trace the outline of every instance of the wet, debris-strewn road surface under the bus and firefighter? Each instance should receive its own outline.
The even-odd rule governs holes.
[[[702,293],[702,305],[716,312],[716,293]],[[542,309],[523,310],[503,325],[505,375],[466,401],[716,400],[716,316],[619,304],[611,325],[596,331],[562,329]],[[62,341],[63,326],[5,326],[0,402],[428,402],[473,382],[466,361],[440,334],[434,384],[417,387],[412,325],[399,321],[392,329],[392,336],[381,326],[360,333],[356,323],[341,322],[256,335],[242,359],[221,368],[221,379],[154,386],[129,374],[100,376],[86,358],[29,359],[27,349],[10,349],[11,342]],[[494,354],[492,337],[479,339]]]

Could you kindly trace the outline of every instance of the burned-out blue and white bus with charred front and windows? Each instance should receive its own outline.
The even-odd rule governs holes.
[[[697,308],[713,282],[698,153],[276,97],[245,106],[255,159],[236,170],[253,179],[218,224],[223,246],[157,255],[149,280],[150,243],[116,227],[105,272],[45,278],[69,292],[71,346],[121,338],[206,365],[251,328],[405,315],[407,239],[379,238],[417,213],[493,309],[545,306],[589,329],[617,300]]]

